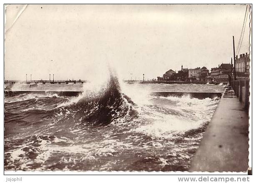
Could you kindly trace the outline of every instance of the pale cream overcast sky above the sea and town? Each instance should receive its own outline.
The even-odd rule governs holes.
[[[8,5],[5,79],[93,81],[108,77],[108,66],[120,79],[152,79],[181,65],[211,70],[231,62],[245,12],[245,5]],[[249,22],[250,15],[238,55],[249,53]]]

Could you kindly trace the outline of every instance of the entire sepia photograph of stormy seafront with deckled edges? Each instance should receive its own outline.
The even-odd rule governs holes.
[[[5,174],[252,174],[251,4],[4,9]]]

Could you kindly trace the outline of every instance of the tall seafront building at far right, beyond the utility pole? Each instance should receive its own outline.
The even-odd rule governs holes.
[[[250,54],[240,54],[236,56],[236,79],[249,79]]]

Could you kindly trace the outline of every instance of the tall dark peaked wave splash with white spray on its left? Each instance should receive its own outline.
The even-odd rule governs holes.
[[[85,84],[84,92],[77,98],[60,104],[58,107],[68,107],[71,110],[84,112],[82,123],[110,124],[120,121],[125,116],[136,116],[133,101],[121,91],[118,77],[110,71],[109,80],[100,87],[95,83]]]

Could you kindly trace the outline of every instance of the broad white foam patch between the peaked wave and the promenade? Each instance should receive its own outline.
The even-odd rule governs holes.
[[[160,106],[157,110],[151,106],[144,106],[146,112],[141,111],[141,117],[150,121],[148,124],[136,128],[136,132],[142,132],[156,137],[170,138],[173,134],[197,129],[211,119],[211,115],[218,102],[211,98],[199,100],[197,98],[189,98],[188,96],[181,98],[173,96],[157,98],[174,101],[176,105]],[[180,111],[182,115],[170,115],[168,110],[173,112]],[[186,110],[186,112],[183,110]]]

